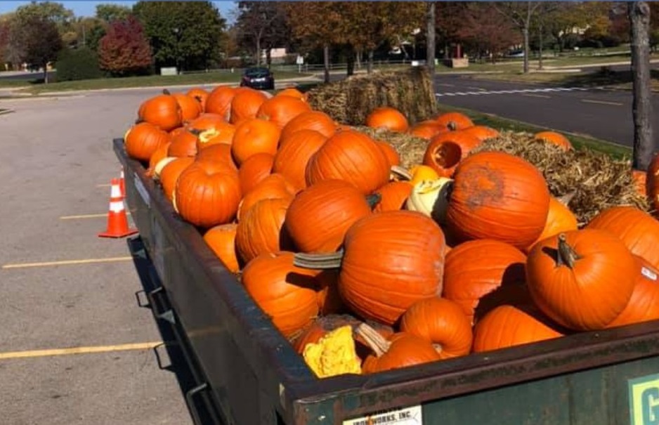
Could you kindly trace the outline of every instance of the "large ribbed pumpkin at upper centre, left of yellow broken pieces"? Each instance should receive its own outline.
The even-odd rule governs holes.
[[[389,161],[377,143],[357,131],[328,138],[306,167],[306,183],[339,179],[367,195],[389,181]]]

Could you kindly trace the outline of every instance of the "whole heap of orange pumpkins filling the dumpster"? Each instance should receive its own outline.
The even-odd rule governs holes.
[[[457,112],[410,125],[377,107],[364,124],[296,89],[220,86],[145,100],[124,141],[318,377],[659,319],[648,212],[580,222],[546,170],[485,149],[501,133]],[[387,133],[422,140],[419,162]],[[535,138],[574,155],[558,133]]]

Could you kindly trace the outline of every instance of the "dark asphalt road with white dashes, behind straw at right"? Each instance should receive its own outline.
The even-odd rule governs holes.
[[[601,88],[547,87],[507,81],[436,77],[437,100],[551,129],[632,145],[632,93]],[[659,131],[659,95],[652,96]]]

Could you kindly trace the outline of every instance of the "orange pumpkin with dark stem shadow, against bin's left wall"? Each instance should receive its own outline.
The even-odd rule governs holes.
[[[318,315],[317,272],[293,266],[293,254],[263,254],[242,270],[241,282],[256,305],[284,336],[292,336]]]

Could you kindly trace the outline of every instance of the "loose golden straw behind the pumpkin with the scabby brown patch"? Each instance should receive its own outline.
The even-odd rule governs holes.
[[[568,203],[579,225],[587,224],[600,211],[616,205],[633,205],[650,211],[645,196],[637,192],[627,159],[613,159],[593,150],[569,150],[534,140],[533,134],[502,131],[471,152],[497,150],[526,159],[547,180],[555,197],[573,193]]]

